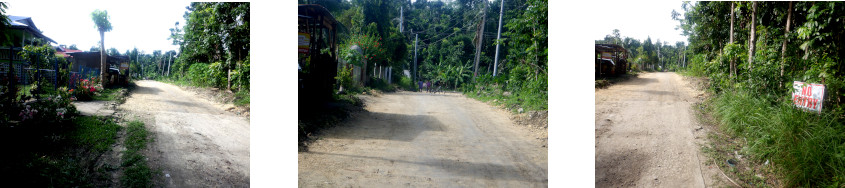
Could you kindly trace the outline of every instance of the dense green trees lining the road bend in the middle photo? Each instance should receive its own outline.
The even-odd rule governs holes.
[[[345,28],[340,32],[339,54],[355,65],[366,59],[365,76],[373,75],[374,65],[389,66],[395,75],[391,82],[400,88],[415,90],[419,81],[440,81],[447,89],[473,94],[484,91],[482,95],[486,97],[512,98],[514,102],[510,104],[515,106],[547,109],[546,0],[504,2],[496,77],[492,75],[501,1],[300,0],[299,3],[320,4],[336,17]],[[483,32],[479,26],[485,28]],[[350,50],[353,45],[369,44],[377,46],[368,46],[360,54]],[[476,55],[479,55],[477,64]],[[403,70],[410,72],[410,78],[404,76]],[[348,79],[338,77],[338,80],[345,84]],[[382,81],[371,84],[376,83]]]

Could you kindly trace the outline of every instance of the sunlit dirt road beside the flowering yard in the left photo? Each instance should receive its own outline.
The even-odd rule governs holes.
[[[157,81],[141,80],[119,107],[145,122],[145,155],[164,187],[249,187],[249,120],[231,105]]]

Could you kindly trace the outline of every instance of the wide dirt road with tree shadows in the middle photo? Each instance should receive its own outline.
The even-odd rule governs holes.
[[[300,187],[548,186],[548,149],[508,112],[459,94],[365,101],[299,152]]]

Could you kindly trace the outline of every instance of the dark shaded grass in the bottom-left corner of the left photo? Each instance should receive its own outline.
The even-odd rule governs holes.
[[[97,187],[108,166],[94,165],[116,142],[121,127],[101,117],[76,117],[61,125],[4,128],[0,175],[7,185]],[[15,186],[12,186],[15,187]]]

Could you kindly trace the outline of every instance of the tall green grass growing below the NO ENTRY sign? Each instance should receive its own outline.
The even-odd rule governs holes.
[[[790,101],[747,91],[713,100],[721,128],[747,140],[752,159],[771,160],[789,187],[845,186],[845,127],[840,114],[805,112]]]

